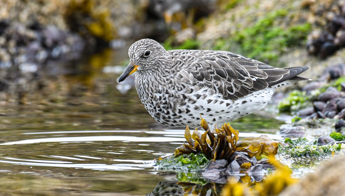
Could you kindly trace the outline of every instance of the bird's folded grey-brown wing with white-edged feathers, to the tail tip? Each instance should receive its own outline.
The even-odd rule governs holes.
[[[225,99],[237,100],[282,81],[291,79],[307,67],[276,68],[226,51],[172,51],[173,60],[184,62],[178,78],[207,86]]]

